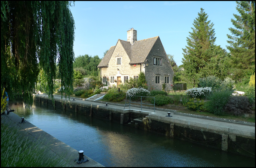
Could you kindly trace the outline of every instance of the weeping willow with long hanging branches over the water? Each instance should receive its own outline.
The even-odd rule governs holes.
[[[53,100],[56,78],[61,79],[61,94],[71,94],[75,23],[69,6],[62,1],[1,1],[1,88],[11,99],[21,93],[31,103],[40,82]]]

